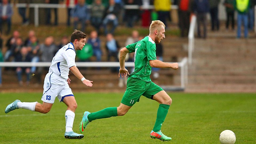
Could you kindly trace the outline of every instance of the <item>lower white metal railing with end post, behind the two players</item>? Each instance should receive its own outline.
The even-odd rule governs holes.
[[[187,58],[179,63],[181,71],[181,88],[185,88],[188,78]],[[76,62],[77,67],[119,67],[119,62]],[[0,62],[0,67],[50,67],[51,62]],[[134,67],[134,62],[125,62],[125,67]]]

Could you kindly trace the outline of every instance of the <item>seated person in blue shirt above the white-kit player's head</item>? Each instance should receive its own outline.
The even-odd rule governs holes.
[[[78,0],[77,5],[73,11],[74,18],[74,29],[77,29],[77,25],[79,22],[82,24],[81,30],[85,31],[86,23],[89,23],[90,20],[90,11],[85,4],[85,0]]]

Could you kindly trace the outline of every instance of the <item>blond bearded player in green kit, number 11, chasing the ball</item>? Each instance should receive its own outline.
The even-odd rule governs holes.
[[[95,119],[125,115],[127,111],[139,101],[141,95],[143,95],[146,98],[153,99],[160,103],[155,126],[150,133],[150,137],[160,139],[161,141],[171,140],[170,137],[167,137],[161,132],[161,126],[168,113],[172,100],[161,87],[151,81],[149,76],[152,67],[172,68],[177,70],[178,63],[165,63],[156,58],[155,43],[160,43],[160,41],[165,38],[165,24],[159,20],[152,21],[149,31],[148,36],[138,42],[127,45],[120,51],[120,69],[118,75],[119,77],[121,75],[122,78],[129,75],[127,79],[127,88],[120,106],[108,107],[94,113],[85,111],[80,123],[81,133],[83,133],[89,122]],[[128,70],[125,68],[125,57],[127,53],[133,52],[135,52],[135,70],[133,73],[129,74]]]

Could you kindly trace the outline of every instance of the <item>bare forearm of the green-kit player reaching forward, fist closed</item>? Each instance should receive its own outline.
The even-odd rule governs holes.
[[[155,60],[149,60],[149,64],[151,67],[156,67],[156,68],[172,68],[174,70],[179,69],[179,64],[176,63],[167,63],[167,62],[162,62],[157,59]]]

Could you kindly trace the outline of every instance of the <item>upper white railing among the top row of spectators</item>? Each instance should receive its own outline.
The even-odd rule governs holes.
[[[16,7],[27,7],[26,3],[17,3],[15,4]],[[34,8],[34,23],[37,27],[39,25],[39,8],[66,8],[66,4],[46,4],[46,3],[30,3],[28,7]],[[74,8],[75,5],[70,5],[70,8]],[[91,6],[88,5],[90,8]],[[170,5],[171,9],[178,9],[177,5]],[[138,5],[125,5],[125,9],[139,9]],[[142,9],[154,9],[153,5],[142,6]]]

